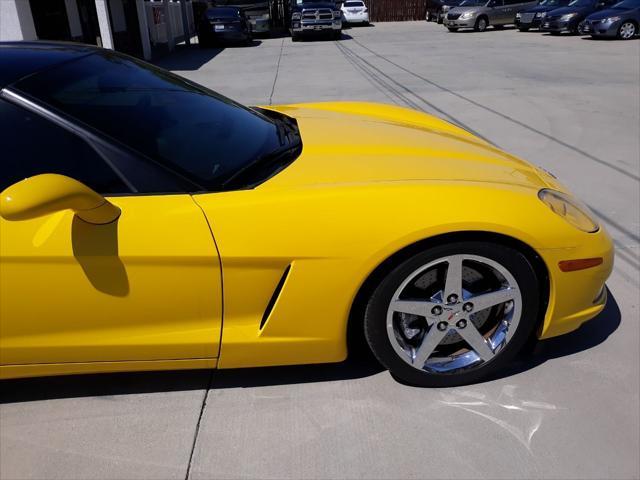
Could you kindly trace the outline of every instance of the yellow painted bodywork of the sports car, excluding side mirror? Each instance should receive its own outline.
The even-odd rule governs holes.
[[[571,331],[603,308],[611,240],[603,229],[577,230],[538,199],[541,188],[564,190],[546,173],[407,109],[269,108],[297,119],[303,150],[258,187],[109,199],[122,210],[117,250],[100,257],[100,268],[113,270],[110,281],[91,282],[91,268],[74,255],[71,212],[0,220],[1,363],[340,361],[349,312],[371,272],[415,242],[455,232],[501,234],[538,253],[550,276],[541,338]],[[113,247],[113,228],[110,235]],[[595,268],[558,268],[561,260],[597,256],[604,262]],[[123,272],[129,289],[118,282]],[[3,375],[11,372],[21,375]]]

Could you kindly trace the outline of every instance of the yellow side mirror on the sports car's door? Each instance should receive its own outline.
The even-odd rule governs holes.
[[[96,225],[120,216],[120,209],[102,195],[64,175],[36,175],[0,193],[0,216],[5,220],[29,220],[60,210],[73,210],[85,222]]]

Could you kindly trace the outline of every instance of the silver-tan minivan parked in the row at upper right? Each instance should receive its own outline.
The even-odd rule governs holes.
[[[536,0],[464,0],[447,12],[444,25],[451,32],[459,28],[473,28],[483,32],[489,25],[502,28],[514,24],[516,13],[533,7]]]

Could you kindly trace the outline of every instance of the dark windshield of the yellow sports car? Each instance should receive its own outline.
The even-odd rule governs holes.
[[[65,63],[16,88],[205,189],[281,147],[276,121],[113,52]]]

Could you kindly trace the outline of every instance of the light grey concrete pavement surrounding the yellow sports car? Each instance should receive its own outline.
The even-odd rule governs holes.
[[[8,381],[2,479],[640,477],[640,40],[387,23],[158,64],[248,104],[424,110],[543,166],[615,239],[608,306],[463,388],[364,360]]]

